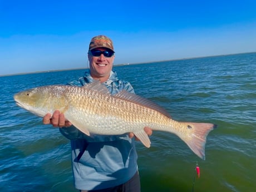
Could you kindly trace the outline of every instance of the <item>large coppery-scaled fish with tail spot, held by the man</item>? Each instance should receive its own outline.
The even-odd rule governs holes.
[[[58,110],[67,121],[84,134],[121,135],[129,132],[150,147],[144,127],[175,134],[205,160],[206,137],[216,125],[202,122],[175,121],[155,104],[125,90],[111,95],[100,81],[85,86],[48,85],[14,94],[19,107],[43,117]]]

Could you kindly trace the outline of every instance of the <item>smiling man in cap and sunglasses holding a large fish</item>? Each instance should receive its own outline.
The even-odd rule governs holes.
[[[78,81],[68,83],[83,86],[95,80],[109,89],[111,94],[126,90],[134,93],[129,82],[122,81],[112,71],[114,46],[106,36],[93,37],[88,50],[90,71]],[[85,191],[127,191],[139,192],[140,179],[137,171],[137,152],[134,135],[87,136],[65,121],[65,116],[55,111],[43,118],[44,124],[62,127],[62,135],[71,140],[72,170],[75,187]],[[144,129],[148,135],[152,130]]]

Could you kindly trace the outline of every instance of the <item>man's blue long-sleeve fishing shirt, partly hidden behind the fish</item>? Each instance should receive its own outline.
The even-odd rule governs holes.
[[[90,72],[78,81],[68,83],[83,86],[93,81]],[[119,80],[116,72],[110,73],[104,82],[112,95],[126,90],[134,93],[131,84]],[[87,136],[76,127],[61,128],[62,135],[71,140],[72,170],[75,187],[80,190],[97,190],[110,188],[125,183],[137,171],[137,152],[134,139],[123,135]]]

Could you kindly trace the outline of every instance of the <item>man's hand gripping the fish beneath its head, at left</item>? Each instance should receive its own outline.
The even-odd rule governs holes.
[[[52,124],[54,127],[68,127],[71,126],[70,121],[65,120],[64,114],[62,114],[60,111],[55,111],[52,114],[46,114],[43,117],[43,124]]]

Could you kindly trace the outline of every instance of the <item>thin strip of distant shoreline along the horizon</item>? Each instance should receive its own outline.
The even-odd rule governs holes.
[[[160,63],[160,62],[166,62],[166,61],[180,61],[180,60],[193,60],[196,58],[207,58],[207,57],[221,57],[221,56],[232,56],[232,55],[242,55],[242,54],[250,54],[250,53],[256,53],[256,52],[245,52],[245,53],[231,53],[227,55],[213,55],[213,56],[202,56],[202,57],[189,57],[189,58],[177,58],[173,60],[162,60],[162,61],[148,61],[148,62],[139,62],[139,63],[120,63],[117,65],[114,65],[114,67],[119,66],[125,66],[125,65],[141,65],[141,64],[147,64],[147,63]],[[47,72],[57,72],[57,71],[71,71],[71,70],[86,70],[85,68],[67,68],[62,70],[48,70],[48,71],[35,71],[35,72],[21,72],[21,73],[11,73],[7,75],[0,75],[0,77],[4,76],[15,76],[15,75],[27,75],[27,74],[33,74],[33,73],[47,73]]]

